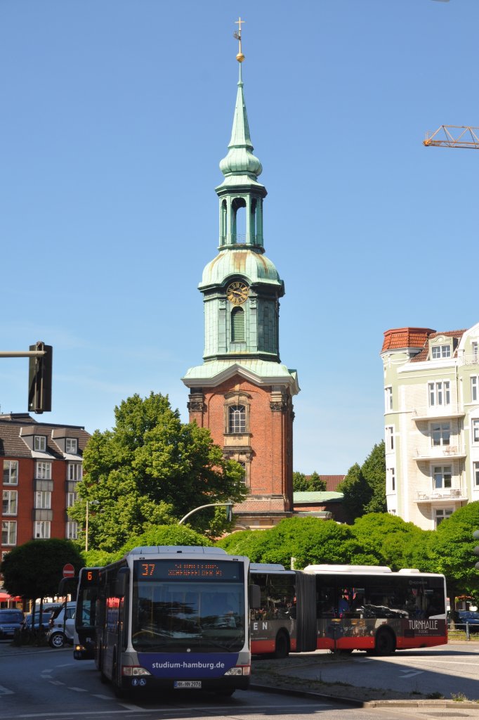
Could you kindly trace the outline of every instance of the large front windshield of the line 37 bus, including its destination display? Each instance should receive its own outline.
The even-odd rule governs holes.
[[[239,651],[245,643],[242,575],[242,564],[232,562],[135,562],[134,649]]]

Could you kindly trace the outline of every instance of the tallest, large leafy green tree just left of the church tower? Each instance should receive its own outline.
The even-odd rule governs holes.
[[[88,544],[115,552],[129,536],[178,522],[193,508],[245,498],[243,469],[225,460],[206,428],[181,423],[168,397],[133,395],[115,408],[112,430],[96,431],[83,454],[81,499],[69,515],[83,523],[89,503]],[[226,513],[202,510],[190,525],[218,536]]]

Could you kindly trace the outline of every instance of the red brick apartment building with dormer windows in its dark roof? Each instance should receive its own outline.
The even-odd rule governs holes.
[[[76,539],[68,508],[77,497],[89,437],[80,426],[37,423],[27,413],[0,415],[2,558],[28,540]]]

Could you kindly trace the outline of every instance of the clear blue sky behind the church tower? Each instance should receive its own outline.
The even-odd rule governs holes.
[[[479,320],[479,153],[421,143],[479,125],[478,0],[0,0],[0,349],[54,346],[38,419],[104,430],[150,390],[187,419],[239,15],[294,467],[344,473],[383,437],[384,331]]]

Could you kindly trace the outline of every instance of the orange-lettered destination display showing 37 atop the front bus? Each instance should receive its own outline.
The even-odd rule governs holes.
[[[135,580],[242,580],[242,564],[211,560],[138,560]]]

